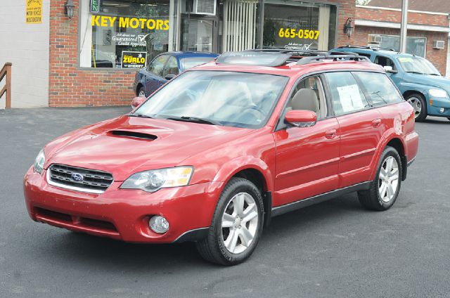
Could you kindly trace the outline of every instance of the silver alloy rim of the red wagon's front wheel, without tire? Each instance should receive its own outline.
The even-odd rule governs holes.
[[[250,194],[238,193],[231,198],[221,222],[226,250],[240,254],[250,247],[257,233],[258,216],[255,199]]]

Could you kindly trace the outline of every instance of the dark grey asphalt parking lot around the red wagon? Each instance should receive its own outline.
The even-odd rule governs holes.
[[[22,179],[39,150],[121,108],[0,111],[0,297],[450,297],[450,121],[416,124],[397,202],[346,195],[273,219],[252,257],[221,267],[192,243],[136,245],[32,221]]]

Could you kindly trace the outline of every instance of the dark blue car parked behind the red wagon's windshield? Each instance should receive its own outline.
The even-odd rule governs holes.
[[[202,52],[167,52],[156,56],[146,67],[136,72],[134,92],[136,96],[147,97],[188,68],[208,63],[219,54]]]

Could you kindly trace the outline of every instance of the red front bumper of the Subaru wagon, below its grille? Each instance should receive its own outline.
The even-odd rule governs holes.
[[[79,193],[50,186],[42,174],[32,168],[25,174],[24,195],[34,221],[72,231],[124,240],[127,242],[169,243],[189,233],[204,235],[223,183],[200,183],[165,188],[155,193],[124,190],[113,184],[100,195]],[[158,234],[148,228],[153,215],[165,216],[169,231]]]

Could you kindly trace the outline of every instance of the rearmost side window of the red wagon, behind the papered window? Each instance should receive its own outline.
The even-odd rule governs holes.
[[[395,88],[394,83],[386,76],[375,72],[354,72],[360,80],[373,105],[389,105],[391,103],[401,103],[403,98]]]

